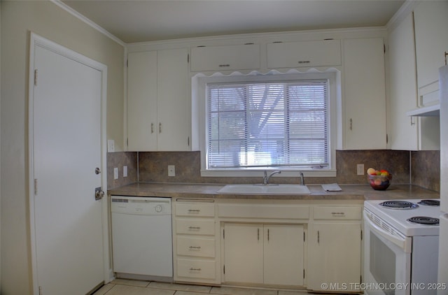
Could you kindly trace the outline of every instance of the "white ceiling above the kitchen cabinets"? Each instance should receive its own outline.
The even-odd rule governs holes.
[[[384,26],[398,0],[62,0],[125,43]]]

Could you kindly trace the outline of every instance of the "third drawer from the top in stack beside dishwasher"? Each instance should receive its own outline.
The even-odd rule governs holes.
[[[176,253],[178,255],[215,257],[214,238],[192,238],[178,236],[176,241]]]

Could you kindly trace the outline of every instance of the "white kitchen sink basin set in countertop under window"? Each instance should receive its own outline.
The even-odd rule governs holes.
[[[218,194],[310,194],[306,185],[226,185]]]

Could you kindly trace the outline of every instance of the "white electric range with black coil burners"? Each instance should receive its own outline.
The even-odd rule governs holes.
[[[365,201],[365,294],[437,294],[440,202]]]

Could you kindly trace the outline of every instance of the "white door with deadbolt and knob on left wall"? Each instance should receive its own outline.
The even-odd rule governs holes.
[[[39,45],[34,69],[34,292],[86,294],[104,282],[102,71]]]

